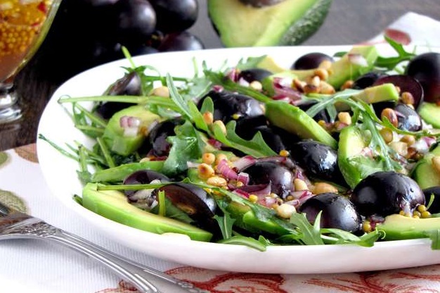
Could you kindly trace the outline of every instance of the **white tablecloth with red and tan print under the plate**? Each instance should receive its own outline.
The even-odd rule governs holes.
[[[369,42],[383,42],[383,35],[405,44],[440,46],[440,23],[424,15],[408,13]],[[34,144],[0,152],[0,201],[26,208],[28,213],[61,229],[212,293],[440,292],[440,265],[367,273],[261,275],[191,268],[145,256],[97,234],[51,195],[41,174]],[[38,240],[9,240],[0,244],[0,292],[122,293],[137,290],[74,251]]]

